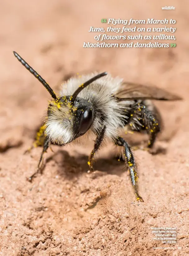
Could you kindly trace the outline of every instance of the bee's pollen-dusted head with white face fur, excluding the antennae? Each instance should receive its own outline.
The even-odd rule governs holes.
[[[84,135],[95,117],[93,106],[87,100],[64,96],[51,100],[47,110],[45,134],[58,145],[65,145]]]

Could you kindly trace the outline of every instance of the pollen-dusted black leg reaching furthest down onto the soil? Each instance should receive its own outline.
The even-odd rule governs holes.
[[[124,146],[124,154],[125,154],[125,163],[128,165],[129,173],[131,177],[131,182],[134,188],[135,196],[137,201],[143,202],[142,197],[138,193],[138,174],[137,174],[137,166],[134,161],[133,153],[128,145],[128,143],[121,137],[117,138],[116,144],[119,146]]]

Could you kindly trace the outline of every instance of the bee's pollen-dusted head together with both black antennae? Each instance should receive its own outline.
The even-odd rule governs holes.
[[[73,95],[57,98],[49,84],[35,70],[15,51],[13,54],[43,84],[53,98],[49,102],[47,120],[45,121],[45,134],[49,139],[53,143],[63,145],[85,134],[92,126],[94,111],[90,102],[77,96],[90,83],[106,76],[107,73],[100,73],[81,84]]]

